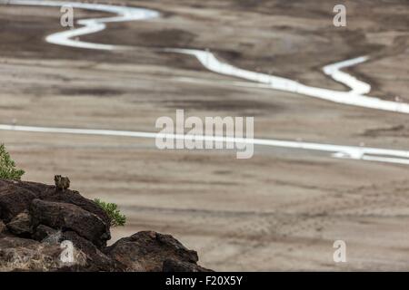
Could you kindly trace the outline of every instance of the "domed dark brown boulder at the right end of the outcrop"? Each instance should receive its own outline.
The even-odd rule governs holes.
[[[122,263],[127,271],[160,272],[165,260],[196,264],[195,251],[187,249],[174,237],[153,231],[136,233],[118,240],[107,249],[111,256]]]

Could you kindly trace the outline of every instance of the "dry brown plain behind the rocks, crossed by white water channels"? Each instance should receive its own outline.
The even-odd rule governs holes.
[[[116,1],[119,3],[119,1]],[[121,2],[125,3],[125,2]],[[371,94],[409,101],[406,1],[126,1],[163,17],[112,24],[86,39],[135,46],[95,52],[45,43],[57,9],[0,7],[0,123],[157,131],[155,120],[254,116],[257,138],[409,149],[408,116],[232,85],[194,58],[162,47],[209,48],[237,66],[338,90],[326,63],[369,54],[351,70]],[[75,11],[76,17],[103,14]],[[237,81],[237,80],[234,80]],[[335,160],[302,150],[157,150],[155,140],[0,131],[25,179],[68,175],[89,198],[128,217],[115,238],[142,229],[173,234],[215,270],[408,270],[405,166]],[[347,263],[334,264],[335,239]]]

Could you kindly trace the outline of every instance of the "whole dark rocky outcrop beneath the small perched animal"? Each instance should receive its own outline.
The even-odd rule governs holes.
[[[106,247],[109,225],[105,211],[77,191],[0,179],[0,271],[209,271],[195,251],[153,231]]]

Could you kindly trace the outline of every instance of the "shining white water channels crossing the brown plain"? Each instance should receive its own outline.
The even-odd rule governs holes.
[[[119,5],[100,5],[77,2],[60,2],[60,1],[39,1],[39,0],[0,0],[2,5],[42,5],[42,6],[72,6],[73,8],[94,10],[100,12],[113,13],[113,17],[82,19],[76,22],[81,25],[79,28],[65,30],[46,36],[45,40],[48,43],[65,45],[71,47],[95,49],[95,50],[116,50],[116,49],[132,49],[129,46],[113,45],[105,43],[87,43],[76,39],[85,34],[94,34],[106,28],[106,24],[113,22],[125,21],[140,21],[149,20],[159,17],[160,14],[155,10],[126,7]],[[205,50],[167,48],[166,53],[183,53],[194,56],[206,69],[214,73],[234,76],[246,81],[257,82],[264,84],[264,88],[279,90],[284,92],[294,92],[302,95],[323,99],[330,102],[337,102],[346,105],[360,106],[369,109],[394,111],[399,113],[409,113],[409,104],[403,102],[384,101],[378,98],[367,96],[365,94],[371,91],[371,86],[368,83],[362,82],[354,78],[354,76],[344,73],[341,69],[358,63],[364,63],[369,58],[367,56],[357,57],[351,60],[346,60],[339,63],[329,64],[324,66],[323,71],[336,82],[342,82],[351,90],[348,92],[334,91],[329,89],[317,88],[304,85],[300,82],[295,82],[290,79],[269,75],[265,73],[255,73],[234,67],[231,64],[223,63],[218,60],[214,53]],[[8,124],[0,124],[0,130],[3,131],[31,131],[31,132],[47,132],[47,133],[66,133],[66,134],[86,134],[86,135],[103,135],[103,136],[125,136],[134,138],[151,138],[166,137],[172,139],[186,139],[185,135],[177,134],[160,134],[155,132],[140,132],[140,131],[110,131],[110,130],[88,130],[88,129],[73,129],[73,128],[52,128],[52,127],[32,127],[32,126],[15,126]],[[370,160],[389,162],[395,164],[409,165],[409,151],[407,150],[386,150],[368,147],[342,146],[332,144],[321,144],[302,141],[288,140],[266,140],[266,139],[240,139],[240,138],[225,138],[218,136],[196,136],[196,140],[214,140],[236,143],[253,143],[254,145],[282,147],[299,150],[316,150],[331,153],[334,158],[348,158],[354,160]]]

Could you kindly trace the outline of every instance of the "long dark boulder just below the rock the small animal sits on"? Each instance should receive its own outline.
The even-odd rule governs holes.
[[[35,226],[43,224],[63,231],[73,230],[97,247],[104,247],[111,237],[101,218],[73,204],[35,199],[30,213]]]

